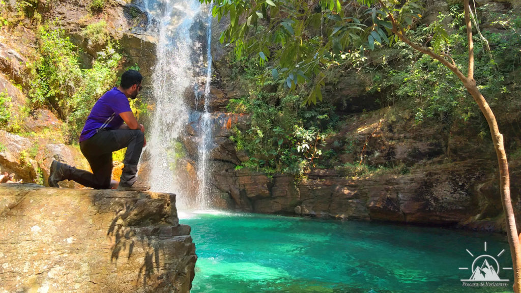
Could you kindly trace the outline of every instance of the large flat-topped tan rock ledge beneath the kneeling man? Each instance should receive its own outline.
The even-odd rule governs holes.
[[[189,292],[175,195],[0,185],[0,292]]]

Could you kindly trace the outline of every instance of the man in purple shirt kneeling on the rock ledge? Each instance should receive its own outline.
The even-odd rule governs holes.
[[[128,70],[121,76],[119,87],[106,92],[97,100],[81,131],[80,149],[89,162],[92,173],[53,161],[48,184],[59,187],[61,180],[74,180],[94,189],[109,189],[112,176],[112,152],[127,148],[118,190],[148,190],[150,186],[137,182],[138,162],[146,144],[145,128],[134,117],[129,100],[143,88],[143,76]],[[125,124],[123,124],[125,122]],[[117,183],[116,183],[117,184]]]

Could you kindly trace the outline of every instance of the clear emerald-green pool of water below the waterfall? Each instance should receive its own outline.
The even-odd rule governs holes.
[[[512,291],[512,271],[499,272],[508,287],[468,288],[460,279],[472,272],[458,269],[481,254],[511,267],[503,235],[258,214],[180,222],[192,226],[199,257],[192,293]]]

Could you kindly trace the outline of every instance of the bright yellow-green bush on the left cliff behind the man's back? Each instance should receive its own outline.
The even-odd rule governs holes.
[[[66,140],[72,141],[79,136],[96,100],[116,85],[122,56],[116,50],[118,44],[109,41],[104,50],[97,53],[92,68],[82,69],[78,49],[62,29],[41,26],[38,31],[40,56],[29,66],[33,75],[30,105],[54,108],[59,118],[66,121]]]

